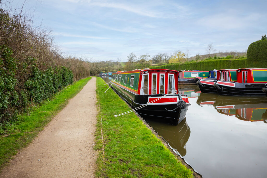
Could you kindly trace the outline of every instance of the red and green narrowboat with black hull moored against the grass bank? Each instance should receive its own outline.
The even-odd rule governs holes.
[[[190,106],[188,97],[179,94],[178,72],[168,69],[139,69],[112,74],[111,87],[141,117],[161,118],[177,125]]]

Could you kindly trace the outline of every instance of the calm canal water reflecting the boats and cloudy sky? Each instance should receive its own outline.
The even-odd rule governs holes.
[[[201,93],[197,85],[179,93],[191,106],[177,126],[144,119],[187,163],[203,177],[267,177],[266,96]]]

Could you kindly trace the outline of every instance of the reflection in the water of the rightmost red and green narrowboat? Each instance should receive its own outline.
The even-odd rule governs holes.
[[[219,113],[228,116],[235,115],[244,121],[264,121],[267,123],[267,98],[266,97],[224,97],[218,96],[214,108]]]

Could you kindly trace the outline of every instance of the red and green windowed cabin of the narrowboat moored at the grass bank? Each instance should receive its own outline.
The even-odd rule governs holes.
[[[168,94],[178,90],[178,72],[176,70],[140,69],[127,72],[118,71],[112,74],[112,81],[120,87],[140,95]]]

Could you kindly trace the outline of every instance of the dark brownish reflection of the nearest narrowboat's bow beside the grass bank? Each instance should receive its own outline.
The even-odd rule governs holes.
[[[184,118],[178,125],[170,125],[166,122],[150,120],[144,118],[150,126],[165,139],[172,149],[178,152],[181,156],[186,155],[186,143],[190,137],[190,128]]]

